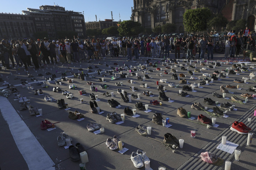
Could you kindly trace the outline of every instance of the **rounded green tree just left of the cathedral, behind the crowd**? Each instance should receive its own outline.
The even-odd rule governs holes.
[[[120,25],[117,30],[121,36],[140,34],[144,30],[139,22],[134,22],[131,20],[119,22],[118,24]]]

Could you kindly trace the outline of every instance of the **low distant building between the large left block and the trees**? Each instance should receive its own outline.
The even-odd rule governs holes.
[[[105,29],[109,27],[117,27],[117,21],[113,21],[113,19],[105,19],[105,21],[96,21],[96,22],[86,22],[86,29]]]

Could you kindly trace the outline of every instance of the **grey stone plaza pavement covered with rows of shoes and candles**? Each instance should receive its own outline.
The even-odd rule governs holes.
[[[174,54],[170,55],[170,58],[174,58]],[[223,55],[214,54],[215,60],[220,60],[223,58]],[[98,61],[91,61],[87,63],[87,61],[78,62],[78,63],[64,63],[58,65],[49,64],[45,66],[43,69],[37,70],[35,72],[32,68],[29,68],[29,72],[34,75],[33,78],[37,80],[43,81],[42,76],[37,76],[37,74],[41,73],[44,77],[48,77],[45,72],[54,73],[57,75],[57,78],[61,77],[60,73],[56,73],[58,71],[64,72],[66,67],[70,67],[74,70],[74,72],[78,72],[78,68],[83,68],[84,73],[87,73],[87,66],[91,66],[94,70],[97,70],[95,66],[100,69],[111,70],[111,68],[105,67],[105,62],[110,67],[116,67],[113,63],[118,63],[119,66],[124,66],[128,64],[128,66],[137,66],[138,64],[146,64],[145,58],[141,58],[137,62],[127,62],[124,57],[121,58],[110,58],[110,56],[106,56],[105,60],[100,60],[103,65],[98,65]],[[149,62],[159,61],[158,67],[165,70],[165,66],[161,66],[161,60],[156,58]],[[180,63],[184,63],[180,61]],[[171,63],[173,64],[173,62]],[[171,65],[170,66],[174,66]],[[189,63],[188,63],[189,65]],[[192,62],[192,65],[194,63]],[[207,64],[206,64],[207,65]],[[214,70],[218,70],[221,72],[226,67],[230,67],[232,65],[222,64],[221,67],[211,68],[209,70],[204,70],[204,73],[212,74]],[[185,66],[188,67],[188,66]],[[199,63],[196,64],[197,68],[202,68]],[[248,66],[245,66],[248,67]],[[203,106],[207,106],[208,109],[212,109],[214,105],[207,105],[203,102],[203,99],[208,97],[214,101],[219,101],[219,103],[223,103],[226,101],[231,102],[231,99],[226,100],[223,98],[217,98],[212,95],[212,92],[217,92],[218,94],[222,94],[220,92],[220,85],[240,85],[241,90],[237,89],[228,89],[234,94],[226,94],[226,97],[231,98],[232,95],[240,96],[241,93],[246,93],[249,86],[254,86],[255,82],[253,80],[247,80],[249,84],[245,83],[235,83],[233,80],[235,78],[241,79],[242,77],[249,77],[251,71],[240,73],[240,75],[229,75],[229,78],[221,78],[220,81],[214,81],[213,83],[209,83],[209,85],[202,85],[203,88],[195,88],[197,92],[188,91],[188,97],[181,97],[177,95],[178,90],[182,89],[182,84],[179,84],[179,80],[172,80],[170,69],[167,69],[169,74],[164,74],[163,71],[157,71],[155,68],[151,66],[147,66],[147,69],[154,70],[153,73],[149,73],[148,75],[152,76],[152,79],[145,79],[144,83],[147,83],[149,88],[140,87],[140,83],[143,83],[137,80],[136,76],[131,76],[127,79],[119,79],[119,80],[111,80],[111,76],[106,74],[105,78],[107,84],[109,86],[108,89],[101,89],[99,87],[102,82],[98,81],[98,78],[101,78],[102,75],[98,75],[97,73],[93,73],[96,77],[95,79],[87,78],[87,81],[92,81],[95,83],[95,86],[98,88],[97,92],[93,92],[99,96],[99,100],[97,102],[98,106],[104,112],[102,114],[93,114],[89,111],[89,94],[92,93],[90,91],[90,86],[86,84],[85,81],[81,81],[80,79],[74,79],[74,84],[78,87],[76,90],[70,90],[66,81],[64,85],[59,85],[62,90],[68,90],[74,94],[74,98],[72,100],[67,99],[66,96],[62,95],[61,92],[53,92],[52,89],[55,84],[48,84],[48,88],[41,88],[41,86],[37,86],[31,78],[28,78],[26,72],[23,69],[12,69],[10,74],[9,70],[1,70],[2,77],[5,81],[11,83],[12,85],[17,86],[17,89],[20,91],[19,93],[22,96],[26,96],[31,100],[31,106],[42,108],[43,114],[42,116],[31,117],[28,113],[28,110],[20,111],[17,100],[14,100],[14,95],[11,94],[8,100],[2,96],[0,96],[0,126],[1,131],[0,134],[4,137],[4,140],[0,140],[1,144],[1,156],[0,156],[0,167],[1,170],[9,170],[16,169],[17,166],[20,169],[34,169],[34,164],[38,163],[37,169],[56,169],[56,170],[71,170],[71,169],[79,169],[79,162],[72,162],[69,157],[69,149],[65,149],[64,147],[58,147],[57,145],[57,137],[61,135],[62,132],[65,132],[73,141],[71,142],[73,145],[76,143],[81,143],[88,154],[89,163],[86,163],[86,168],[89,170],[103,170],[103,169],[136,169],[130,160],[130,155],[132,152],[136,152],[137,149],[143,150],[146,152],[146,155],[150,159],[150,167],[153,170],[157,170],[159,166],[164,165],[167,169],[224,169],[224,164],[222,166],[215,166],[204,163],[200,158],[201,152],[213,152],[217,153],[220,158],[225,160],[230,160],[232,162],[231,169],[254,169],[256,158],[254,157],[255,153],[255,140],[252,140],[252,145],[246,146],[247,135],[240,135],[236,132],[231,131],[229,128],[232,123],[236,120],[244,122],[247,126],[252,128],[252,131],[255,131],[255,117],[253,116],[253,112],[255,109],[255,99],[249,99],[246,104],[235,104],[235,108],[237,111],[229,111],[227,115],[229,117],[217,117],[216,124],[219,124],[217,128],[211,127],[207,129],[206,126],[199,125],[193,123],[191,121],[197,122],[196,119],[188,121],[187,118],[181,118],[177,115],[177,108],[183,107],[186,111],[191,112],[191,116],[197,118],[199,114],[204,114],[207,117],[211,117],[207,115],[206,112],[197,111],[191,108],[191,105],[194,102],[200,102]],[[178,70],[177,74],[183,73],[187,75],[187,71],[180,70],[180,67],[176,68]],[[188,68],[189,70],[194,70],[192,68]],[[20,73],[20,74],[18,74]],[[119,75],[118,72],[114,72]],[[123,73],[129,73],[127,70],[124,70]],[[143,77],[142,70],[137,71],[138,75]],[[158,77],[156,74],[162,73],[163,77]],[[92,75],[92,73],[89,73]],[[105,74],[105,73],[103,73]],[[202,73],[195,73],[196,77],[201,76]],[[28,83],[31,86],[34,86],[34,90],[42,89],[44,95],[38,96],[34,95],[34,90],[27,90],[26,88],[22,88],[20,85],[20,80],[14,80],[15,76],[20,79],[27,79]],[[70,73],[67,73],[67,76],[70,77]],[[6,77],[9,77],[7,80]],[[50,77],[50,75],[49,75]],[[178,88],[172,88],[168,86],[168,83],[160,83],[159,79],[164,78],[167,79],[167,82],[172,82],[175,84],[179,84]],[[187,75],[185,78],[189,83],[199,83],[201,80],[192,80],[190,76]],[[135,84],[127,83],[127,80],[133,80]],[[116,86],[116,82],[123,82],[123,86]],[[164,85],[166,87],[166,96],[171,97],[174,102],[170,103],[168,101],[161,101],[163,104],[160,105],[151,105],[149,102],[151,100],[158,100],[159,91],[157,90],[158,85],[156,85],[156,81],[159,81],[159,84]],[[189,84],[188,84],[189,85]],[[132,92],[130,90],[130,86],[134,86],[138,88],[138,91]],[[84,89],[87,94],[84,96],[79,95],[78,90]],[[121,96],[117,94],[117,89],[122,89],[127,91],[128,94],[137,94],[138,92],[141,94],[140,100],[132,99],[131,103],[124,103],[121,101]],[[153,97],[144,96],[143,91],[152,91],[154,94]],[[114,92],[114,99],[121,103],[121,108],[111,108],[107,105],[107,101],[111,99],[111,97],[103,96],[103,92]],[[252,94],[251,92],[249,92]],[[65,102],[68,103],[68,106],[71,108],[68,111],[64,109],[59,109],[57,107],[57,103],[55,102],[46,102],[44,101],[44,96],[50,95],[54,99],[64,98]],[[80,98],[84,99],[84,103],[80,103]],[[143,104],[149,104],[149,109],[151,112],[146,113],[144,111],[138,111],[137,114],[140,117],[133,118],[130,116],[125,117],[125,121],[122,124],[112,124],[106,120],[106,115],[109,112],[117,112],[118,114],[123,113],[123,109],[127,106],[130,108],[134,108],[136,102],[142,102]],[[14,109],[12,109],[12,107]],[[81,121],[73,120],[68,118],[68,113],[74,111],[79,111],[80,113],[85,115],[85,119]],[[157,125],[153,123],[152,117],[154,113],[162,113],[163,118],[170,118],[170,124],[172,125],[169,128],[163,127],[161,125]],[[18,118],[19,117],[19,118]],[[249,123],[247,118],[251,117],[252,122]],[[60,122],[55,124],[56,129],[47,131],[40,129],[40,123],[42,120],[47,119],[50,122]],[[23,121],[24,123],[22,124]],[[14,124],[17,122],[17,125]],[[87,123],[95,122],[100,125],[100,127],[105,128],[104,133],[94,134],[93,132],[87,131],[86,125]],[[19,124],[18,124],[19,123]],[[135,127],[139,124],[143,124],[146,126],[152,126],[151,135],[148,137],[141,136],[138,132],[135,131]],[[25,127],[26,126],[26,127]],[[20,128],[21,127],[21,128]],[[26,128],[29,128],[30,131],[27,131]],[[16,129],[16,130],[15,130]],[[17,130],[18,129],[18,130]],[[196,130],[196,137],[190,137],[190,130]],[[173,153],[171,149],[166,148],[160,142],[162,142],[164,138],[164,134],[166,132],[171,133],[176,136],[178,139],[184,139],[184,146],[182,149],[176,149],[176,152]],[[29,135],[28,134],[32,134]],[[19,138],[17,138],[17,135]],[[117,135],[118,138],[124,142],[125,148],[129,149],[127,152],[121,154],[118,153],[117,150],[110,150],[106,147],[107,138],[112,138],[114,135]],[[221,137],[223,135],[227,136],[227,140],[230,142],[234,142],[238,144],[238,148],[242,150],[242,154],[240,157],[240,161],[234,161],[234,153],[229,154],[227,152],[216,149],[216,147],[221,143]],[[22,137],[23,136],[23,137]],[[149,138],[150,137],[150,138]],[[27,141],[27,142],[26,142]],[[40,145],[38,145],[40,144]],[[32,145],[38,145],[35,149]],[[8,147],[5,147],[8,146]],[[65,145],[66,146],[66,145]],[[7,152],[11,154],[7,154]],[[5,154],[4,154],[5,153]],[[28,155],[33,155],[34,160]],[[15,159],[13,159],[15,158]],[[15,162],[15,164],[14,164]],[[40,163],[44,164],[42,166]],[[50,168],[50,167],[53,168]],[[140,168],[140,169],[144,169]]]

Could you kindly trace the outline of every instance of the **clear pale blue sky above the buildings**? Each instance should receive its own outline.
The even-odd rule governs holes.
[[[119,21],[119,13],[121,21],[130,20],[132,15],[133,0],[1,0],[0,12],[6,13],[22,13],[27,8],[39,9],[42,5],[59,5],[65,7],[65,10],[83,12],[85,22],[111,19],[111,11],[113,11],[114,21]]]

